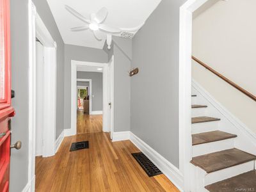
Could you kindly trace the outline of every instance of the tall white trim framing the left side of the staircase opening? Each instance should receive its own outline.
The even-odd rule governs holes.
[[[184,176],[184,191],[191,183],[191,43],[192,13],[208,0],[188,0],[180,6],[179,30],[179,169]]]

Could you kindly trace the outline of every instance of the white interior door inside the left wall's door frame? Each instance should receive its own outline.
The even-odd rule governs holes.
[[[44,123],[44,46],[36,42],[36,156],[42,156]]]

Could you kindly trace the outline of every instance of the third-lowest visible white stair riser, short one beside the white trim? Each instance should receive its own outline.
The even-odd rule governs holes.
[[[217,131],[218,127],[219,127],[219,121],[205,122],[205,123],[199,123],[199,124],[192,124],[191,131],[192,131],[192,134],[200,133],[200,132]]]

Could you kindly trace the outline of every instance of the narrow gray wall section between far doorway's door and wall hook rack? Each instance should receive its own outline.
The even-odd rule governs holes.
[[[131,122],[131,40],[113,38],[114,131],[129,131]]]

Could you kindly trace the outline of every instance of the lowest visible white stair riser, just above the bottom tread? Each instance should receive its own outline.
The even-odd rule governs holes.
[[[254,161],[249,161],[247,163],[231,166],[230,168],[225,168],[217,172],[206,173],[204,178],[204,186],[207,186],[214,182],[228,179],[230,177],[235,177],[236,175],[240,175],[242,173],[250,172],[253,169],[254,169]]]

